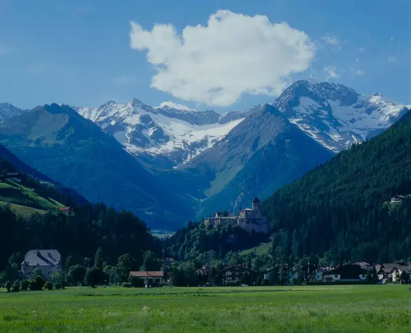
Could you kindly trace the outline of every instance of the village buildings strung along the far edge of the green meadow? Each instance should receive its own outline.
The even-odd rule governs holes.
[[[163,258],[159,271],[129,271],[129,286],[173,285],[173,258]],[[63,268],[62,256],[56,249],[35,249],[25,254],[21,263],[21,276],[30,279],[38,269],[45,280]],[[369,264],[356,262],[336,267],[317,267],[306,264],[302,267],[277,265],[264,272],[257,272],[240,264],[223,264],[221,267],[203,265],[197,269],[200,286],[258,286],[258,285],[301,285],[301,284],[387,284],[410,283],[411,264],[393,262]],[[175,281],[175,280],[174,280]]]

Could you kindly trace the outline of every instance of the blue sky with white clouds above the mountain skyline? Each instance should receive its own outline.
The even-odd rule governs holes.
[[[245,110],[297,79],[411,104],[409,0],[0,0],[0,102]]]

